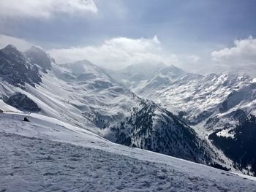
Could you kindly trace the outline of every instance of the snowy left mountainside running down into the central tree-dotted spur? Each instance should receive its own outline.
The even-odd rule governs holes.
[[[230,169],[225,155],[197,137],[186,123],[124,88],[105,69],[86,60],[59,66],[35,47],[25,53],[17,54],[28,69],[37,67],[40,82],[34,86],[25,83],[22,88],[6,80],[0,82],[2,103],[15,111],[38,112],[112,142]],[[16,73],[16,69],[10,72]]]

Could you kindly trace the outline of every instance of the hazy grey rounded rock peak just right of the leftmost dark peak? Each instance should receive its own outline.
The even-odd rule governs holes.
[[[38,47],[31,47],[29,50],[26,50],[25,54],[32,64],[41,66],[42,69],[44,69],[44,72],[46,72],[47,69],[51,69],[50,57]]]

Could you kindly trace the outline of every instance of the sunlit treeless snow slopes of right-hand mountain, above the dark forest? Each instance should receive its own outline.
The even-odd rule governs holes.
[[[255,114],[256,79],[239,74],[189,74],[169,66],[134,90],[140,96],[154,99],[173,112],[185,112],[191,123],[208,116],[233,110]],[[207,113],[207,114],[206,114]]]

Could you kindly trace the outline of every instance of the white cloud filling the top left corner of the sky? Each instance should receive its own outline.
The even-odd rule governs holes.
[[[4,18],[50,18],[62,13],[79,15],[97,13],[93,0],[1,0],[0,16]]]

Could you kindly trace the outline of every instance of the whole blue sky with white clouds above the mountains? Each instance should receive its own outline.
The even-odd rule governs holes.
[[[59,64],[256,70],[255,0],[1,0],[0,47],[37,45]]]

